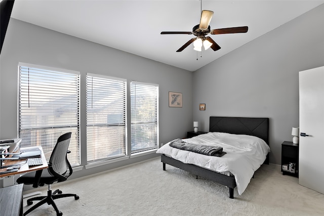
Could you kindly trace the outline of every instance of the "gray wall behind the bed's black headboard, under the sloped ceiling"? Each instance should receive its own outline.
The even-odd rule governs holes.
[[[208,131],[209,116],[269,117],[270,162],[280,164],[281,143],[299,125],[298,71],[323,65],[321,5],[195,71],[193,120]]]

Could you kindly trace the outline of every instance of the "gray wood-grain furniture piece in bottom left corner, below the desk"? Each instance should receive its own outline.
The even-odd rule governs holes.
[[[23,184],[0,188],[0,215],[22,215]]]

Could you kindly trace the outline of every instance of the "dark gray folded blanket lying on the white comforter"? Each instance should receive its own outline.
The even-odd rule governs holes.
[[[224,154],[226,154],[226,152],[223,152],[222,147],[192,144],[192,143],[187,143],[181,139],[176,139],[172,141],[169,145],[173,148],[191,151],[198,154],[204,154],[209,156],[221,157]]]

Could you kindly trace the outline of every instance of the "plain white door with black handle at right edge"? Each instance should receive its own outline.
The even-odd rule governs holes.
[[[299,132],[299,184],[324,194],[324,67],[299,72]]]

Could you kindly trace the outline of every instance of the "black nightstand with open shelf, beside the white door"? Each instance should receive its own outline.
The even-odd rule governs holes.
[[[281,171],[282,175],[291,175],[298,178],[299,145],[285,141],[281,144]]]

